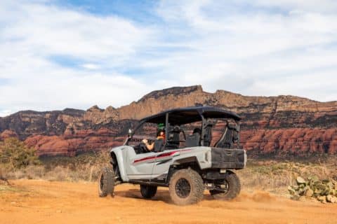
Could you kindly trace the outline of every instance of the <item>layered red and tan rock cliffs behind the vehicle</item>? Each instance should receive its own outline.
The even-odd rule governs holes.
[[[121,144],[128,128],[140,118],[195,105],[239,113],[243,118],[242,146],[255,155],[337,153],[337,102],[293,96],[248,97],[224,90],[209,93],[201,86],[150,92],[119,109],[93,106],[87,111],[20,111],[0,118],[0,139],[17,136],[37,148],[40,155],[75,155]]]

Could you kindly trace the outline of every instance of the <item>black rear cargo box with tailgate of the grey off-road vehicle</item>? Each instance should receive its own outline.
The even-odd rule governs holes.
[[[212,148],[212,168],[243,169],[246,167],[247,155],[244,149]]]

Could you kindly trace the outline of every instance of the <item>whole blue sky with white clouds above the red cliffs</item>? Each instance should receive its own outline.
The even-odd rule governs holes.
[[[0,116],[202,85],[337,100],[337,2],[0,2]]]

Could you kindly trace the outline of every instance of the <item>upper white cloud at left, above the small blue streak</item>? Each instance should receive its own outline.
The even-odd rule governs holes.
[[[8,24],[1,32],[5,47],[20,47],[27,55],[36,53],[34,57],[109,58],[118,64],[133,55],[150,34],[145,27],[114,16],[101,18],[36,3],[4,3],[1,8],[11,12],[0,15]]]

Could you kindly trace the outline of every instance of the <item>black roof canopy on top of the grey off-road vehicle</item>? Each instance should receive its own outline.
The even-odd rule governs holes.
[[[171,125],[184,125],[201,120],[204,118],[227,118],[241,120],[241,118],[232,111],[225,111],[212,106],[192,106],[178,109],[163,111],[152,116],[148,116],[140,120],[140,123],[165,123],[166,113],[169,113],[169,123]]]

